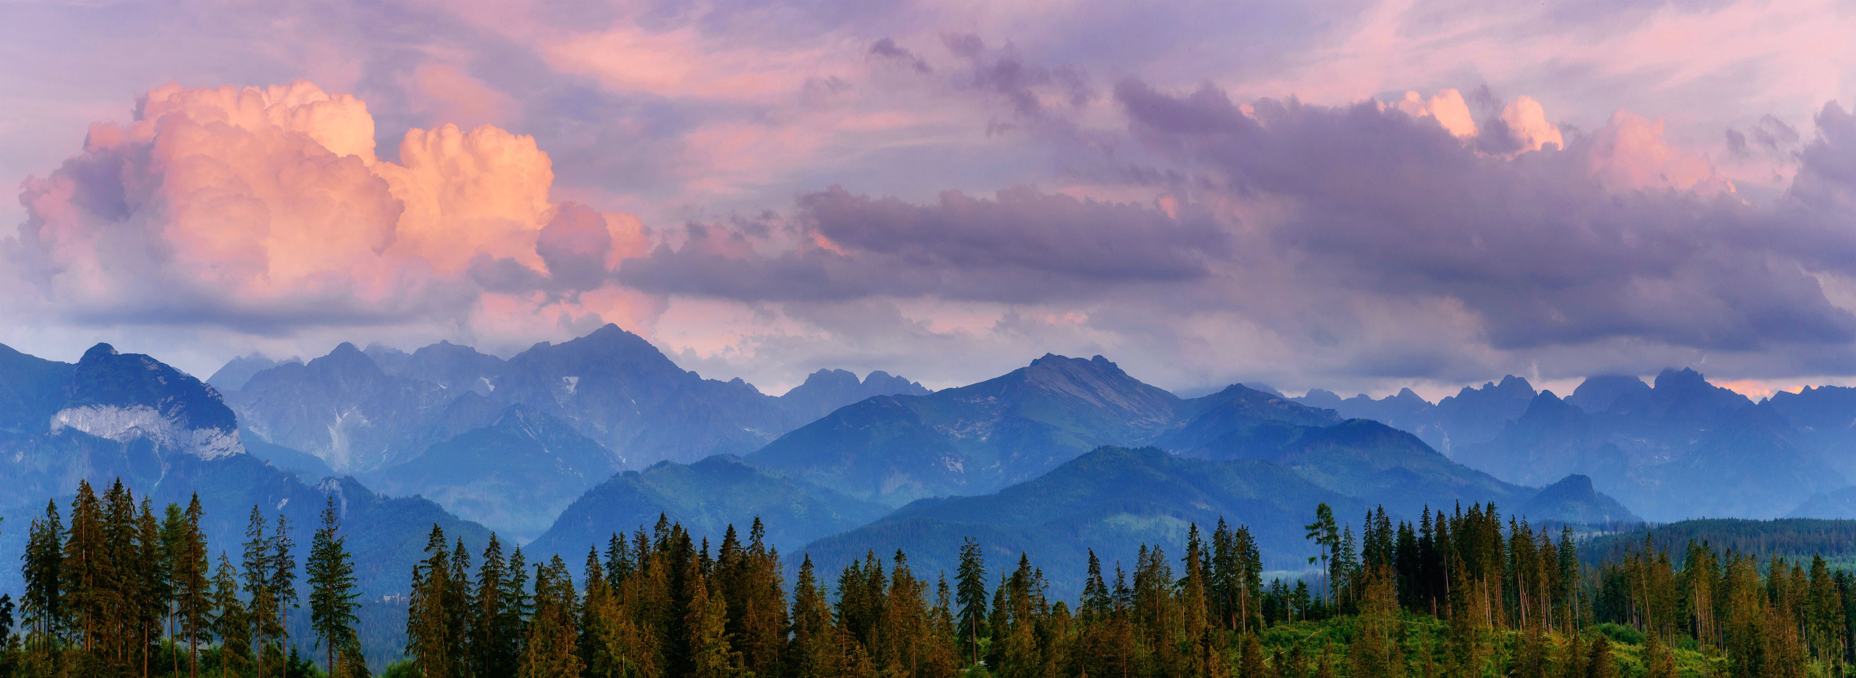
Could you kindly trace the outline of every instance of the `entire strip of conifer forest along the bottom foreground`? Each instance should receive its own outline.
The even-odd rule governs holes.
[[[299,554],[252,507],[208,544],[199,498],[160,511],[87,483],[30,526],[22,600],[0,598],[7,676],[371,676],[334,498]],[[1305,576],[1266,583],[1247,526],[1190,526],[1184,554],[1091,552],[1075,600],[1034,554],[976,542],[956,572],[869,554],[789,563],[759,518],[720,544],[668,518],[588,544],[585,563],[481,552],[432,528],[403,658],[386,676],[1845,676],[1856,578],[1708,542],[1611,546],[1494,505],[1299,526]],[[1676,548],[1672,548],[1676,546]],[[1674,550],[1674,552],[1672,552]],[[236,554],[236,555],[234,555]],[[1680,565],[1676,565],[1680,563]],[[789,570],[791,578],[789,591]],[[297,578],[303,578],[299,581]],[[312,635],[291,637],[286,609]]]

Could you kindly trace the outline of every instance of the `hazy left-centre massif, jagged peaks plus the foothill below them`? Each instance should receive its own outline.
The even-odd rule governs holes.
[[[221,372],[236,377],[252,360]],[[356,474],[529,541],[620,468],[750,453],[831,409],[896,392],[928,390],[882,372],[859,381],[820,370],[772,398],[741,379],[702,379],[607,325],[509,360],[449,342],[412,353],[342,344],[252,373],[228,401],[280,468]]]

